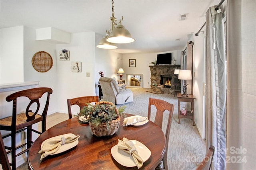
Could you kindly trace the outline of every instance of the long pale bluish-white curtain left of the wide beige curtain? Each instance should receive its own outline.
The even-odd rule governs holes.
[[[226,57],[221,10],[206,12],[206,149],[215,147],[212,169],[226,168]]]

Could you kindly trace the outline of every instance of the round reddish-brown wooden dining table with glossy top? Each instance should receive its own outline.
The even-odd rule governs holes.
[[[126,113],[126,117],[132,116]],[[114,135],[96,137],[88,124],[80,124],[74,117],[51,127],[40,135],[28,152],[28,167],[30,170],[118,170],[137,169],[119,164],[111,154],[111,148],[118,144],[118,139],[126,137],[145,145],[151,156],[143,163],[141,170],[153,170],[160,164],[166,150],[166,138],[163,131],[152,121],[141,126],[122,126],[124,118],[121,117],[120,127]],[[60,154],[49,155],[40,160],[39,150],[44,140],[66,133],[80,135],[76,147]]]

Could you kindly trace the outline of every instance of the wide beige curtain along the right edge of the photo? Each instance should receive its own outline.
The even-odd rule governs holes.
[[[256,1],[228,0],[226,25],[226,169],[252,170],[256,168]]]

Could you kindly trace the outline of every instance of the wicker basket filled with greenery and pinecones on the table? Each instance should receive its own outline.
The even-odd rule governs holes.
[[[118,109],[112,102],[101,101],[95,105],[85,106],[78,117],[85,117],[90,125],[92,133],[98,137],[113,135],[118,131],[120,125],[120,115],[125,117],[124,109]],[[81,123],[81,122],[80,122]]]

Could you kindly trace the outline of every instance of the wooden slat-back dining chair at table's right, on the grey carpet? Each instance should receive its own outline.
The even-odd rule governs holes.
[[[164,169],[168,170],[168,161],[167,161],[168,160],[167,159],[168,142],[169,142],[169,136],[170,136],[170,129],[171,129],[171,125],[172,125],[172,115],[173,115],[174,105],[170,104],[164,100],[149,98],[149,102],[148,102],[148,119],[149,120],[151,117],[151,106],[152,105],[154,105],[156,107],[156,117],[155,117],[154,123],[156,125],[158,125],[161,129],[162,129],[162,123],[163,123],[163,118],[164,118],[164,111],[166,111],[166,110],[169,111],[168,122],[167,122],[167,127],[166,127],[166,132],[165,132],[166,152],[165,152],[164,158],[162,160]]]

